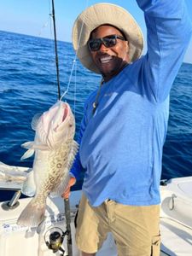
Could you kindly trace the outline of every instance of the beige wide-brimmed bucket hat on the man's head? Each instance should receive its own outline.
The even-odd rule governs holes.
[[[93,62],[88,47],[90,32],[96,27],[108,24],[123,32],[129,42],[129,60],[136,61],[143,51],[143,33],[132,15],[113,3],[96,3],[85,9],[75,20],[72,32],[73,48],[84,67],[100,73]]]

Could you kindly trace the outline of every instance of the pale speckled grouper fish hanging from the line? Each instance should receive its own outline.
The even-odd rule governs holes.
[[[69,170],[78,150],[78,143],[73,140],[75,119],[66,102],[56,102],[42,115],[36,115],[32,129],[36,131],[34,142],[22,144],[28,150],[21,159],[35,154],[32,172],[22,189],[23,194],[34,197],[17,220],[17,224],[27,227],[41,224],[48,195],[61,196],[67,187]]]

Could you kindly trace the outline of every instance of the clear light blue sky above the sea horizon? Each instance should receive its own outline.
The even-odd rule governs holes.
[[[87,7],[94,3],[115,3],[128,9],[135,17],[146,38],[143,12],[136,0],[55,0],[55,20],[57,39],[71,42],[73,22]],[[192,1],[185,0],[192,20]],[[174,4],[174,0],[172,0]],[[18,32],[43,38],[54,38],[51,13],[51,0],[0,0],[0,30]],[[144,48],[146,51],[146,47]],[[192,40],[185,54],[184,62],[192,63]]]

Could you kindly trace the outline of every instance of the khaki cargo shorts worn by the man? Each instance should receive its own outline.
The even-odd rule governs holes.
[[[159,205],[135,207],[108,200],[99,207],[91,207],[82,195],[76,243],[80,251],[96,253],[111,232],[119,256],[159,256],[159,221]]]

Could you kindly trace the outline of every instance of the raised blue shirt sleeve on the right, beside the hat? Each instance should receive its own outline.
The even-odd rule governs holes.
[[[147,26],[147,54],[142,58],[140,83],[154,100],[169,95],[192,33],[184,0],[137,0]]]

